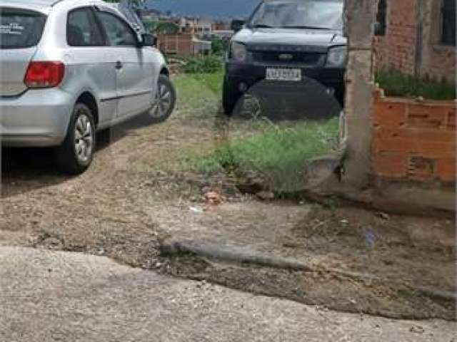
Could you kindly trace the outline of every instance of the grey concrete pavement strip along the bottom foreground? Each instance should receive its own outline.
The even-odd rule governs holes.
[[[454,341],[456,323],[326,311],[84,254],[0,248],[0,341]]]

